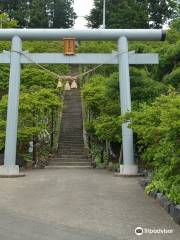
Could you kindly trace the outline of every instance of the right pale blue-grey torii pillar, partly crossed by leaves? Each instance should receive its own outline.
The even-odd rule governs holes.
[[[128,40],[121,37],[118,40],[119,52],[119,87],[121,114],[131,111],[131,90],[128,60]],[[123,165],[120,165],[120,174],[133,175],[138,173],[134,162],[133,132],[128,128],[128,122],[122,124]]]

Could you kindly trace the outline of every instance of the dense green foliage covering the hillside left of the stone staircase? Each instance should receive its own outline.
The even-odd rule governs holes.
[[[10,44],[2,42],[1,50],[9,50]],[[62,52],[59,42],[25,42],[25,50],[31,52]],[[69,71],[65,65],[44,65],[47,69],[64,75]],[[9,66],[0,65],[0,150],[4,150],[7,116]],[[47,156],[57,145],[61,91],[57,90],[58,79],[35,65],[22,66],[19,103],[17,153],[35,164]]]

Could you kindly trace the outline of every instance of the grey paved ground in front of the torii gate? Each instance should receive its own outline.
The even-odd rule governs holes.
[[[45,169],[0,179],[0,240],[180,239],[180,227],[138,179],[106,170]],[[173,234],[136,236],[136,227]]]

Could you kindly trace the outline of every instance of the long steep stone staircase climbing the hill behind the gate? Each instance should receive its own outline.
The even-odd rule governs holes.
[[[65,91],[57,154],[48,168],[90,168],[83,139],[82,105],[79,89]]]

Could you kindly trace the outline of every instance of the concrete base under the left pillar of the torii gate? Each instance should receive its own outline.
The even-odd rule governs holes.
[[[25,174],[19,173],[18,165],[2,165],[0,166],[0,178],[24,177]]]

